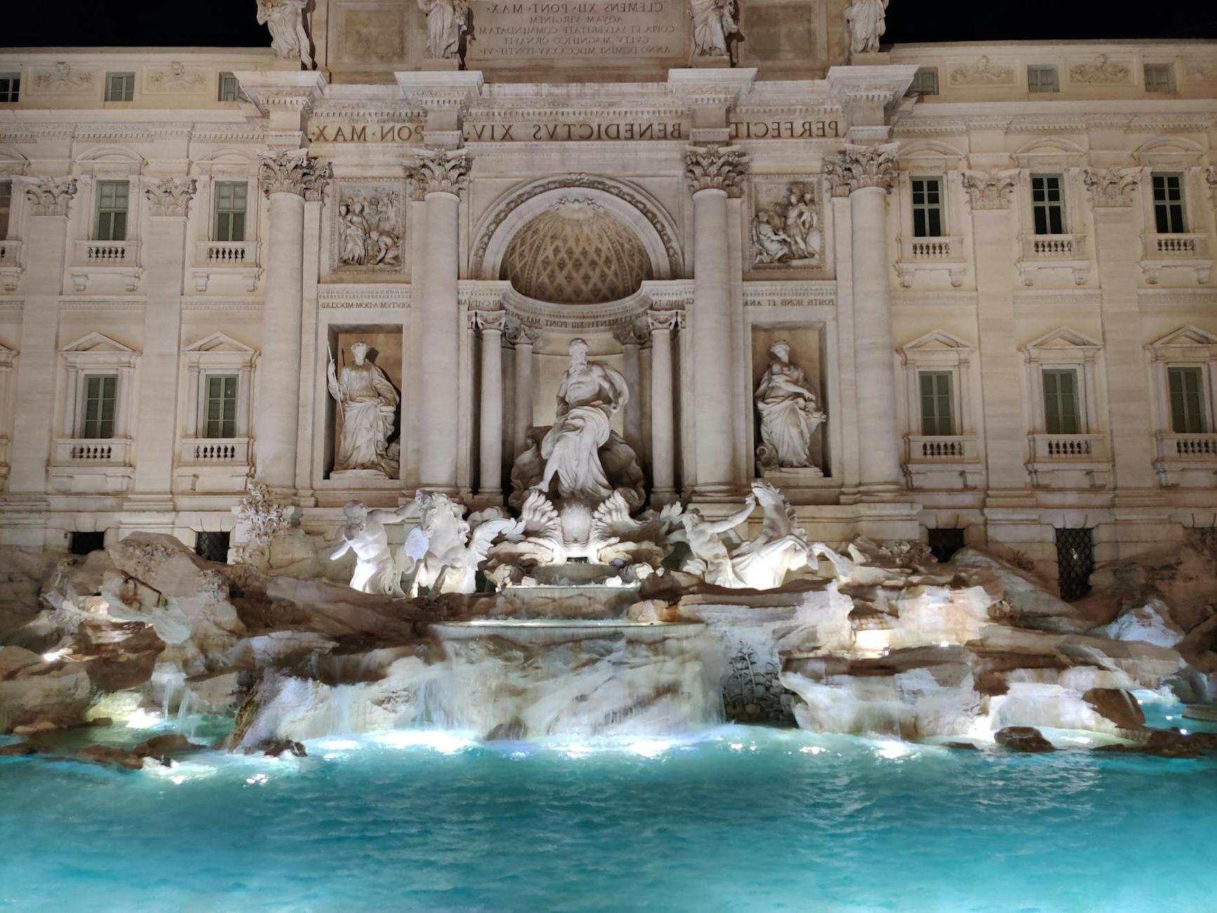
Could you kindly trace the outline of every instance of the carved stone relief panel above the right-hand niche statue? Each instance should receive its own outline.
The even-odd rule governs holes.
[[[824,230],[817,185],[757,183],[752,256],[758,267],[819,267]]]

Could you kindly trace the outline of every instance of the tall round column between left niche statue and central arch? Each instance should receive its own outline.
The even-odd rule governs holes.
[[[424,186],[426,235],[424,290],[419,302],[422,338],[419,353],[421,390],[419,486],[456,493],[459,313],[456,299],[456,215],[469,164],[465,151],[419,153],[415,179]]]

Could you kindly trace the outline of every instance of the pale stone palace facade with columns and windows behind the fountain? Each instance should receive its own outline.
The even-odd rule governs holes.
[[[814,539],[1066,590],[1217,526],[1217,44],[851,52],[836,0],[740,0],[723,56],[668,0],[470,6],[455,57],[404,0],[319,1],[316,69],[0,51],[5,550],[223,553],[249,478],[318,542],[350,499],[506,504],[576,337],[656,505],[763,477]],[[780,340],[807,460],[758,418]]]

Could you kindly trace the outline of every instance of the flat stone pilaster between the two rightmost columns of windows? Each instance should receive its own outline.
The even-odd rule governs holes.
[[[1103,289],[1103,343],[1117,503],[1157,502],[1154,483],[1154,424],[1145,383],[1140,310],[1137,301],[1140,237],[1133,212],[1137,172],[1087,170],[1094,213],[1094,252]]]

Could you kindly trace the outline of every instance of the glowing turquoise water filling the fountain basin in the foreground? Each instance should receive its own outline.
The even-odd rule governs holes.
[[[734,726],[398,732],[163,773],[0,758],[0,908],[1208,913],[1215,822],[1215,761]]]

